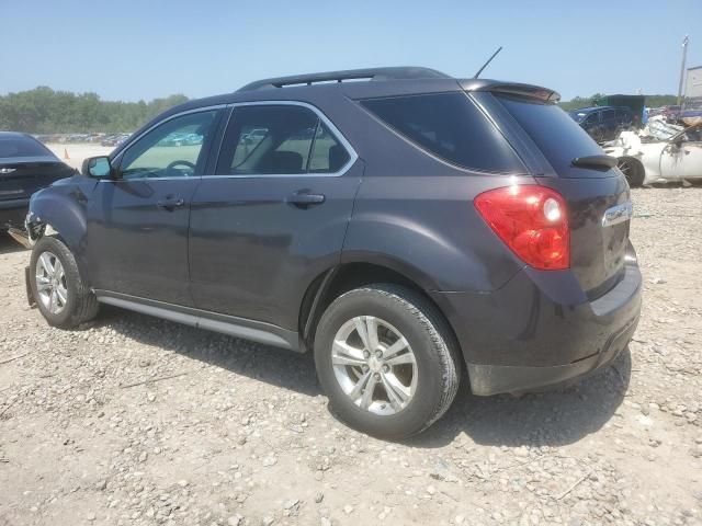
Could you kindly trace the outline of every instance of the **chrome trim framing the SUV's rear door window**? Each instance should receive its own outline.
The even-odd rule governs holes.
[[[329,132],[335,137],[335,139],[337,139],[339,144],[343,146],[343,148],[347,150],[347,153],[349,153],[349,160],[336,172],[250,173],[250,174],[229,174],[229,175],[203,174],[202,175],[203,179],[205,178],[206,179],[339,178],[344,173],[347,173],[351,169],[351,167],[355,163],[355,161],[359,159],[359,155],[356,153],[355,149],[353,149],[351,144],[347,140],[347,138],[339,130],[339,128],[337,128],[337,126],[335,126],[335,124],[329,119],[329,117],[327,117],[327,115],[325,115],[322,111],[319,110],[314,104],[309,104],[308,102],[302,102],[302,101],[268,101],[267,100],[267,101],[251,101],[251,102],[234,102],[231,104],[227,104],[227,106],[231,107],[233,112],[229,114],[229,121],[227,122],[227,125],[225,127],[225,134],[223,134],[222,136],[222,141],[224,141],[224,135],[226,135],[226,130],[229,127],[229,123],[231,122],[231,118],[235,117],[234,110],[236,110],[237,107],[240,107],[240,106],[302,106],[314,112],[315,115],[317,115],[317,117],[329,128]],[[219,150],[222,151],[222,142],[219,145]]]

